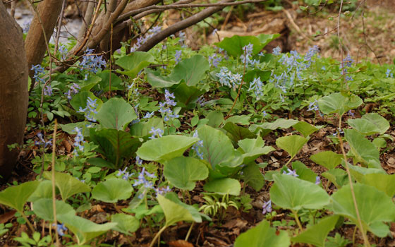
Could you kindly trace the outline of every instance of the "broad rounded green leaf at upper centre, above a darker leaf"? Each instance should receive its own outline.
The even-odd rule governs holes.
[[[208,70],[209,62],[205,56],[197,54],[190,59],[183,59],[179,62],[171,71],[170,78],[174,81],[184,80],[186,85],[195,86],[205,78]]]

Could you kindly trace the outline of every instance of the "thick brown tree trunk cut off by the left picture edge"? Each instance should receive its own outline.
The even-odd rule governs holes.
[[[18,151],[7,145],[23,143],[28,112],[28,63],[22,30],[0,1],[0,175],[11,175]]]

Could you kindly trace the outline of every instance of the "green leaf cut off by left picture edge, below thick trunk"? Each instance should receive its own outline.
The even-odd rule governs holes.
[[[23,212],[23,205],[25,205],[38,186],[39,181],[29,181],[18,186],[8,187],[0,192],[0,203]]]

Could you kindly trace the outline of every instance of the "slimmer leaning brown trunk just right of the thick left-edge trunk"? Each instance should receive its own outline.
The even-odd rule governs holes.
[[[39,3],[37,7],[37,13],[30,23],[30,29],[25,40],[26,57],[28,58],[28,68],[32,65],[41,64],[44,54],[47,51],[46,40],[49,42],[56,21],[58,20],[59,14],[61,13],[61,6],[63,1],[61,0],[44,0]],[[40,23],[40,19],[42,23]],[[34,75],[34,71],[30,71],[30,77]]]

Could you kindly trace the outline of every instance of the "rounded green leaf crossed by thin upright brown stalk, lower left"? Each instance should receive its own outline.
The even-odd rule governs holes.
[[[42,198],[33,203],[35,214],[49,222],[54,222],[54,207],[52,198]],[[75,210],[71,205],[63,202],[63,200],[56,200],[56,216],[57,215],[75,215]]]

